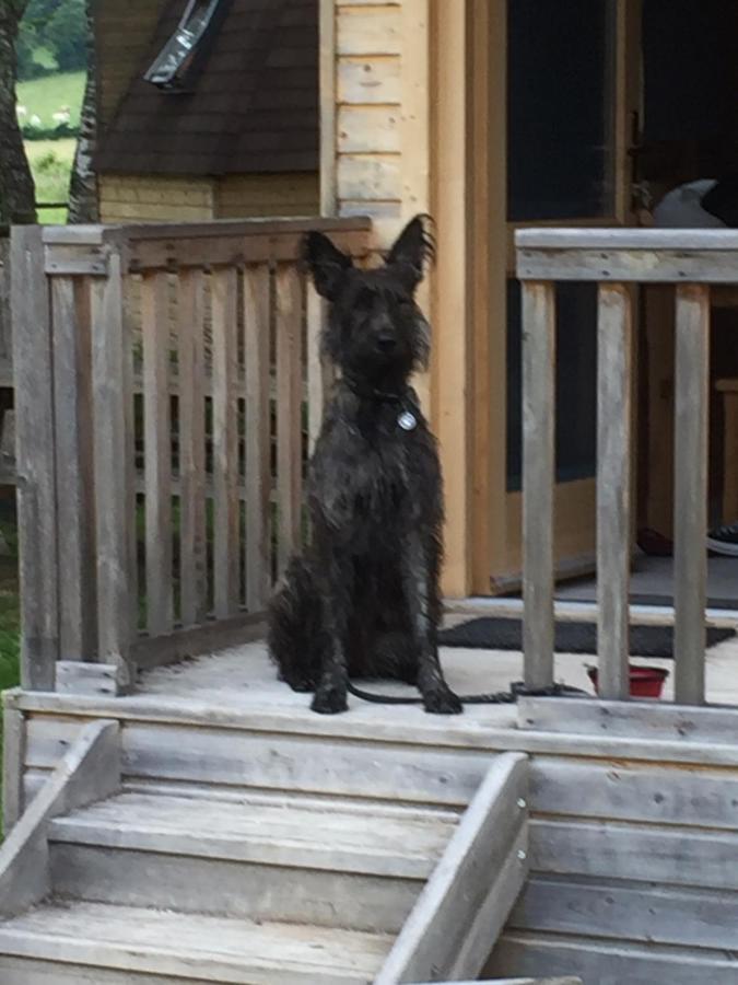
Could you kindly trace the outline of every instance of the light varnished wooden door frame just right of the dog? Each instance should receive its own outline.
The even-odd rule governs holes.
[[[628,151],[632,113],[641,108],[641,2],[616,0],[613,213],[563,223],[507,222],[506,3],[433,3],[433,311],[441,333],[432,390],[446,476],[444,589],[454,598],[496,594],[520,581],[520,494],[506,488],[506,281],[514,229],[634,222]],[[560,573],[590,570],[595,479],[558,485],[557,501]],[[576,535],[581,529],[587,536]]]

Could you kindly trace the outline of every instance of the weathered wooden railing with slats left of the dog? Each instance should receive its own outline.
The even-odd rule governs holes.
[[[363,219],[13,230],[24,687],[117,693],[261,618],[323,412],[316,228],[367,252]]]

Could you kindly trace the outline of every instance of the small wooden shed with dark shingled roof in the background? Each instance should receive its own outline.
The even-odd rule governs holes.
[[[148,81],[200,8],[186,78]],[[317,0],[103,3],[95,32],[102,221],[318,212]]]

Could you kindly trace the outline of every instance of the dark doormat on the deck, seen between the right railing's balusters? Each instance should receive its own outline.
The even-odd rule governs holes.
[[[707,629],[707,647],[735,636],[735,629]],[[438,642],[444,647],[483,650],[522,650],[523,623],[507,617],[483,617],[443,629]],[[554,647],[559,653],[597,652],[597,626],[594,623],[560,622],[555,626]],[[631,626],[631,657],[673,658],[671,626]]]

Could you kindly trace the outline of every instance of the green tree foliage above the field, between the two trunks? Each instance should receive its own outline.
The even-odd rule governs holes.
[[[28,0],[17,44],[19,78],[83,69],[86,37],[85,0]]]

